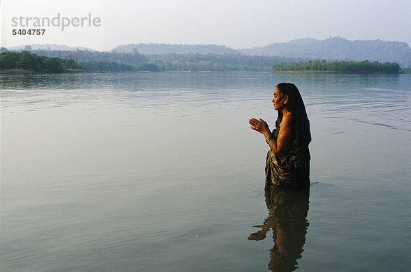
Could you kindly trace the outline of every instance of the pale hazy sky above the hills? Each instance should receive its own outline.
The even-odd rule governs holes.
[[[60,26],[33,27],[35,17],[52,20],[58,13],[54,23]],[[99,25],[87,24],[89,14]],[[5,47],[47,43],[97,50],[140,42],[239,49],[329,36],[411,45],[410,14],[411,0],[1,0],[0,37]],[[77,26],[62,30],[62,17]],[[27,18],[45,34],[13,36],[13,29],[28,29]]]

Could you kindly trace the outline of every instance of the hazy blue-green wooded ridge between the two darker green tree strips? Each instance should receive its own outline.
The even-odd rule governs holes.
[[[105,70],[102,62],[117,62],[134,66],[133,71],[271,71],[277,62],[308,61],[303,58],[240,54],[169,53],[143,55],[134,48],[121,51],[87,50],[33,50],[47,57],[71,58],[77,60],[86,70]],[[113,64],[114,65],[114,64]]]

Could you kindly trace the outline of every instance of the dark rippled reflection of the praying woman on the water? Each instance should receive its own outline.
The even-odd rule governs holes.
[[[309,189],[296,189],[266,184],[266,204],[269,217],[261,230],[250,234],[249,240],[262,240],[273,230],[274,247],[270,249],[269,269],[293,271],[301,258],[307,234]]]

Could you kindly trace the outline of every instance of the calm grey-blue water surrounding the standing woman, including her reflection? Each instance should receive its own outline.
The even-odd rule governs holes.
[[[279,82],[310,195],[264,192]],[[411,76],[0,75],[1,271],[406,271]]]

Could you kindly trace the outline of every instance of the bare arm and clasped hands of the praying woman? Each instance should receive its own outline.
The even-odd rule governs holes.
[[[279,156],[284,156],[290,149],[291,145],[291,138],[292,138],[292,115],[284,115],[282,122],[279,124],[279,133],[277,140],[273,138],[271,131],[269,129],[269,125],[260,119],[251,118],[249,120],[249,124],[251,125],[251,129],[256,130],[264,135],[266,139],[269,140],[269,146],[271,150]]]

